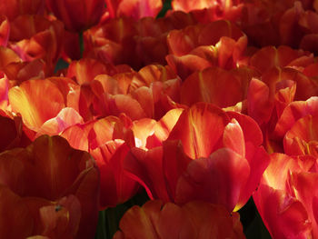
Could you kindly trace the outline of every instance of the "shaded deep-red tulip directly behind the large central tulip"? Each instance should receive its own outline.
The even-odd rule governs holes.
[[[234,106],[247,98],[248,84],[253,75],[258,74],[248,68],[225,71],[215,66],[195,72],[181,86],[181,103],[189,106],[197,102],[220,107]]]

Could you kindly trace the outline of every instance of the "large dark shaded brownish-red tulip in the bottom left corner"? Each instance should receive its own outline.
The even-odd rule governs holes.
[[[19,210],[27,208],[18,220],[9,221],[9,230],[20,232],[14,228],[24,223],[28,225],[26,236],[94,236],[99,172],[89,154],[71,148],[62,137],[41,136],[26,148],[0,154],[0,171],[0,184],[16,194]],[[0,228],[4,228],[5,215],[12,212],[7,211],[10,207],[1,210],[6,212],[0,215]]]

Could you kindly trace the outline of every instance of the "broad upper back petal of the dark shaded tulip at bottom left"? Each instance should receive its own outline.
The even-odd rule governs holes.
[[[1,182],[17,194],[47,200],[65,194],[93,160],[88,153],[71,148],[64,138],[47,135],[25,149],[6,151],[0,156],[2,168],[7,171],[0,176]],[[13,165],[15,169],[11,168]]]

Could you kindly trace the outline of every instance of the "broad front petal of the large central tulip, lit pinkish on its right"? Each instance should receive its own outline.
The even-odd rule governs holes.
[[[176,186],[175,202],[202,200],[223,204],[232,212],[249,174],[246,159],[230,149],[219,149],[208,158],[195,159],[188,164]]]

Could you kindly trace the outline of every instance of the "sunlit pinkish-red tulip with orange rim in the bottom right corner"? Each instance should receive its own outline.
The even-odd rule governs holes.
[[[317,234],[315,159],[271,154],[253,200],[273,238],[308,238]]]

